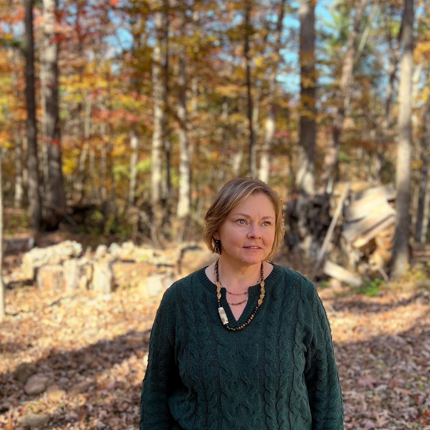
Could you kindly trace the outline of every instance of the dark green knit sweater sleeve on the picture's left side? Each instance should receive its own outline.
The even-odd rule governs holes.
[[[169,290],[168,290],[169,291]],[[167,293],[167,292],[166,292]],[[170,428],[169,395],[174,380],[174,328],[170,324],[172,306],[164,294],[154,319],[149,341],[148,364],[142,383],[139,430]]]

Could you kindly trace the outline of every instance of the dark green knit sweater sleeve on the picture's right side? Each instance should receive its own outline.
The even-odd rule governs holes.
[[[313,290],[313,336],[307,349],[305,367],[312,428],[343,430],[344,409],[338,367],[333,352],[332,333],[326,310],[314,286]]]

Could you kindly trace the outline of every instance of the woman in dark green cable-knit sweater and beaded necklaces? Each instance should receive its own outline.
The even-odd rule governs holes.
[[[140,430],[343,429],[329,322],[308,279],[270,261],[282,202],[233,179],[205,218],[218,260],[175,282],[155,317]]]

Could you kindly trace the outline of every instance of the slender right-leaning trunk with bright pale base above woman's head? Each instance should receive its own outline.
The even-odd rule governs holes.
[[[275,44],[273,46],[273,63],[269,75],[269,106],[267,110],[266,123],[264,125],[264,143],[260,156],[260,169],[258,177],[261,181],[268,182],[270,176],[270,150],[272,149],[273,137],[276,130],[276,105],[275,105],[275,91],[276,91],[276,71],[279,62],[279,49],[281,47],[281,34],[282,22],[284,19],[285,0],[279,3],[279,11],[276,22]]]

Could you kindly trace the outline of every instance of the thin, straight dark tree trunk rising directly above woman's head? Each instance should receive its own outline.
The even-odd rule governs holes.
[[[249,34],[251,33],[249,20],[251,17],[251,1],[252,0],[246,0],[245,2],[245,45],[243,53],[245,56],[246,66],[246,97],[248,99],[249,174],[252,178],[255,178],[257,172],[257,154],[255,148],[254,129],[252,126],[251,59],[249,58]]]

